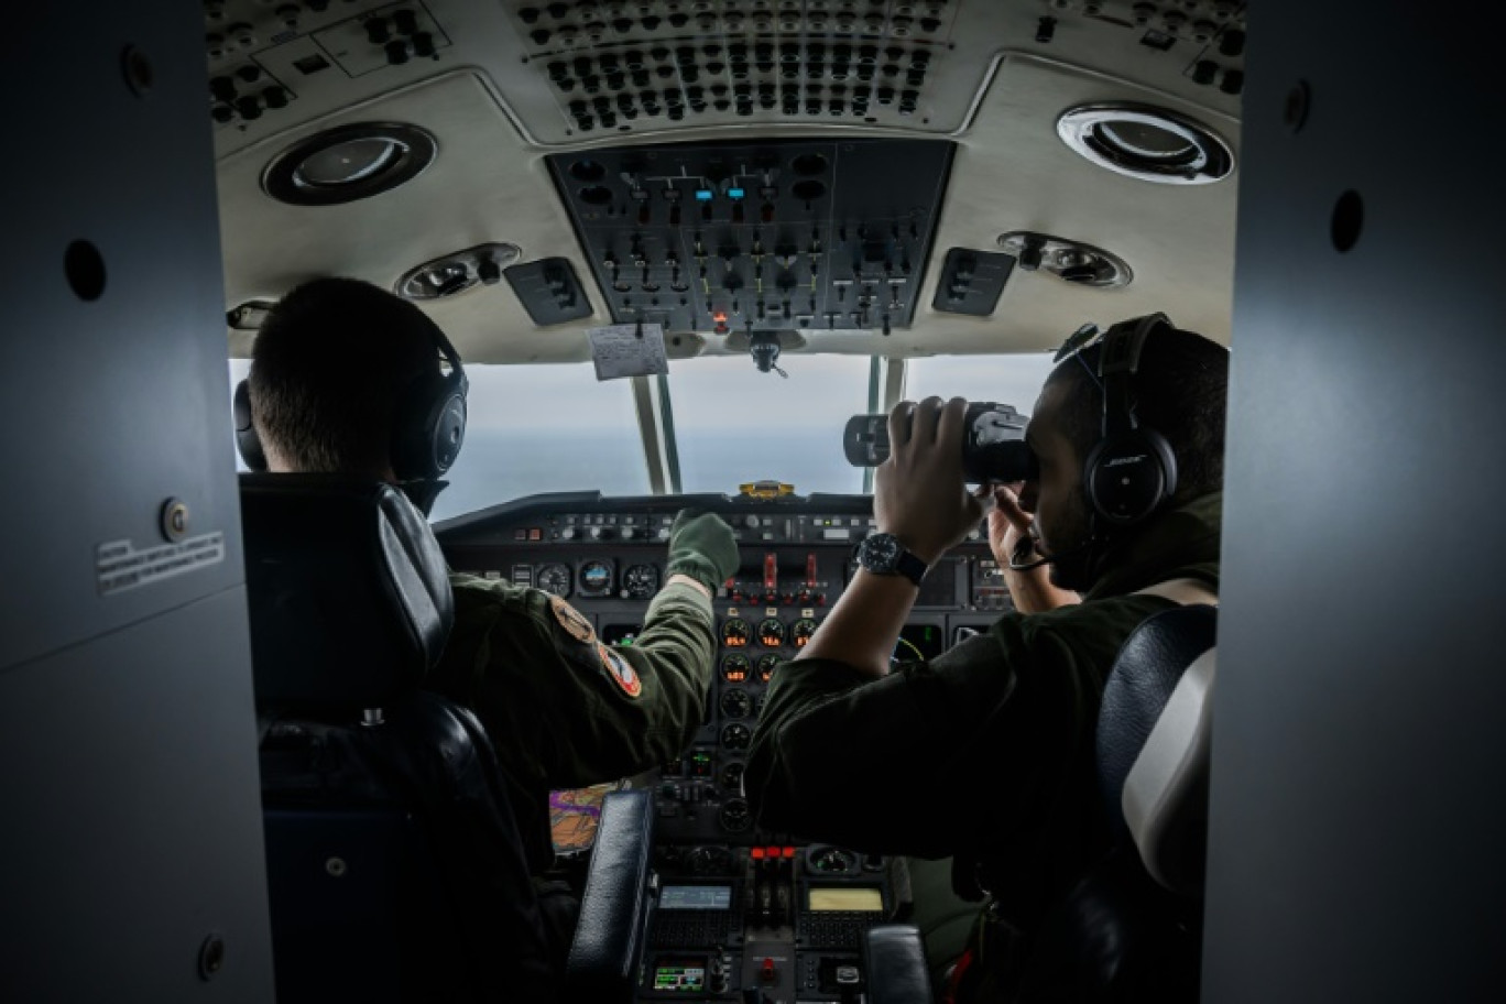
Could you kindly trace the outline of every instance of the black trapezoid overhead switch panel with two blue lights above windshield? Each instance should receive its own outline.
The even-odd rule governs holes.
[[[952,154],[852,138],[547,160],[616,322],[889,334],[914,318]]]

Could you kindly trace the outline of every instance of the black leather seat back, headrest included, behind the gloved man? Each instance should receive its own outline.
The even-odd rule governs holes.
[[[453,617],[428,524],[291,474],[245,476],[242,512],[279,1002],[550,999],[491,744],[417,686]]]

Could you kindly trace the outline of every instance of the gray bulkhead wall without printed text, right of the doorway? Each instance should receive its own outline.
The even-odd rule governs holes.
[[[1506,995],[1501,27],[1251,5],[1205,1001]]]

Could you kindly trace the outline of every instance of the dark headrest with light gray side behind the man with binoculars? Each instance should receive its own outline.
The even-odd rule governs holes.
[[[1098,780],[1108,819],[1161,885],[1202,893],[1218,614],[1167,610],[1131,632],[1098,716]]]

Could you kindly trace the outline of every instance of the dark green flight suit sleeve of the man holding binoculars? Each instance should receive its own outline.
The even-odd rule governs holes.
[[[759,825],[938,858],[1026,811],[1095,704],[1069,647],[1024,620],[878,680],[831,659],[777,668],[744,774]]]

